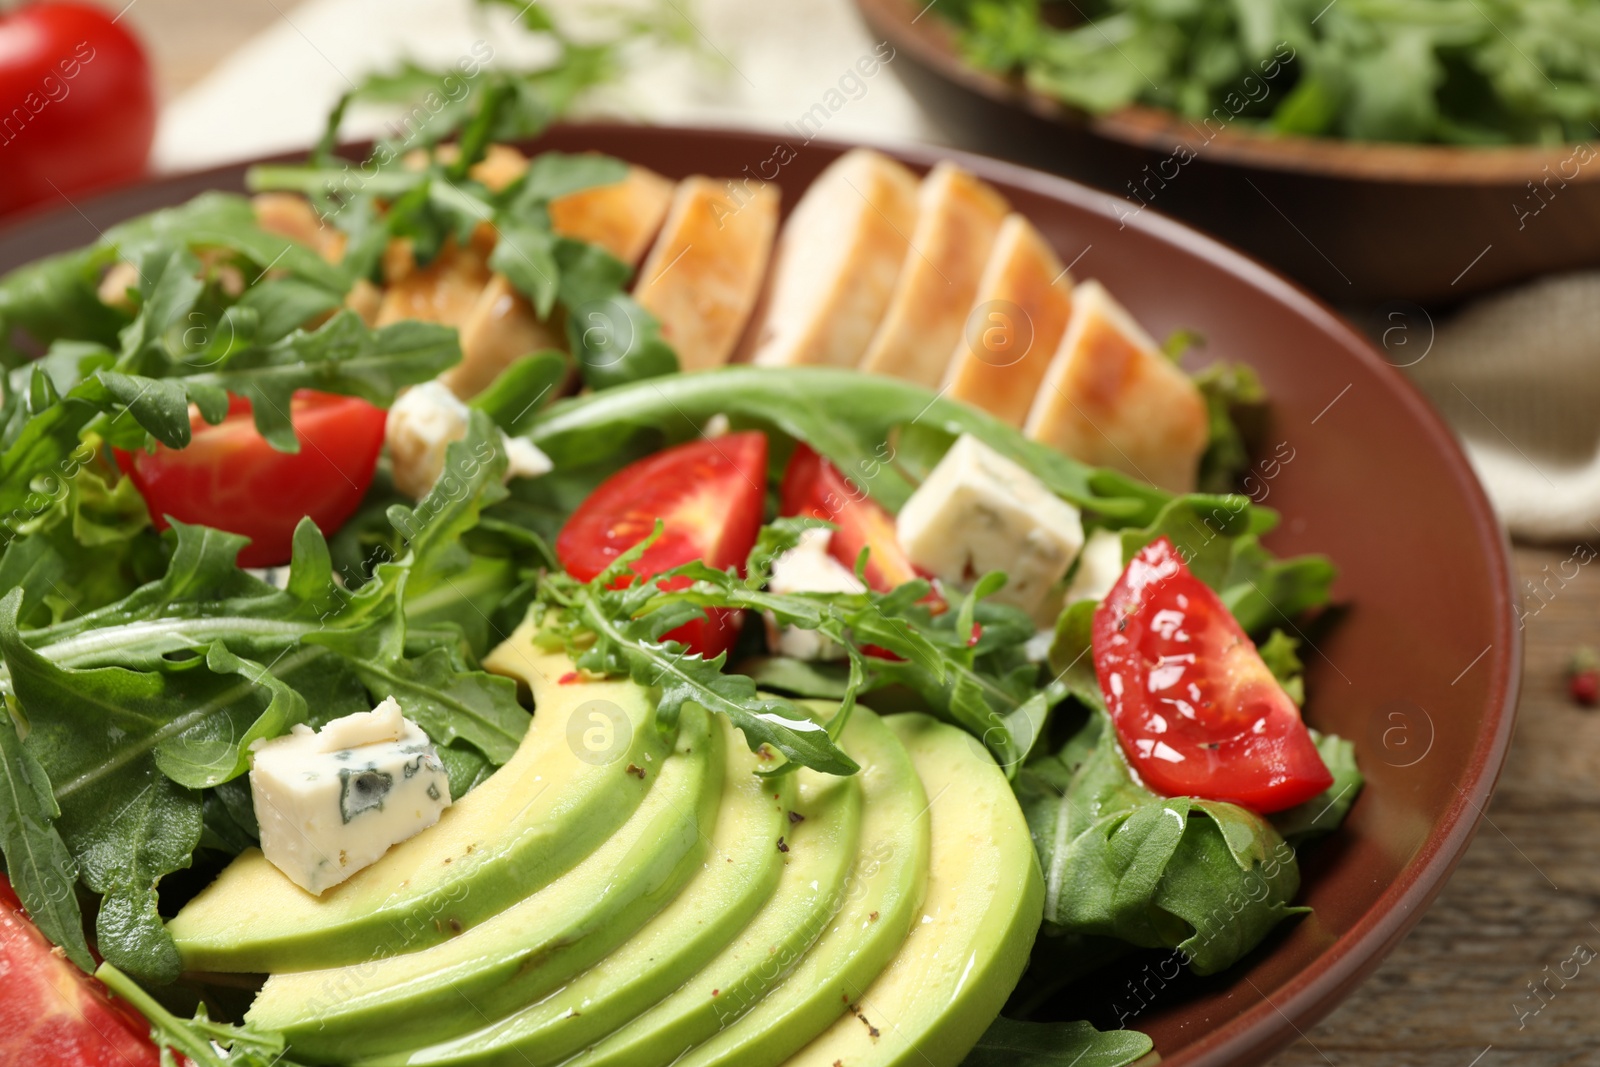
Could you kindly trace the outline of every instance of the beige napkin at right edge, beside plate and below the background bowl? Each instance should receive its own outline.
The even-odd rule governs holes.
[[[1426,338],[1413,333],[1410,352],[1398,338],[1390,360],[1410,363],[1514,536],[1600,536],[1600,272],[1483,298],[1442,322],[1426,354]]]

